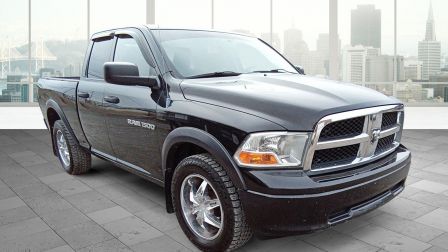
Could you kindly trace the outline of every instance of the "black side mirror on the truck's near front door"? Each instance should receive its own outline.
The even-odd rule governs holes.
[[[128,62],[104,63],[104,80],[108,83],[128,86],[145,86],[159,89],[160,83],[156,76],[141,77],[138,67]]]

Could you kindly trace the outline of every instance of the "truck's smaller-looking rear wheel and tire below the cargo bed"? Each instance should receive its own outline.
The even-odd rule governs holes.
[[[61,135],[62,134],[62,135]],[[61,139],[61,136],[63,139]],[[65,141],[65,148],[61,150],[58,139]],[[89,171],[91,166],[90,153],[79,146],[75,137],[68,131],[62,120],[57,120],[53,126],[53,146],[64,170],[71,175],[79,175]],[[68,153],[69,158],[64,155]],[[65,156],[65,158],[64,158]]]

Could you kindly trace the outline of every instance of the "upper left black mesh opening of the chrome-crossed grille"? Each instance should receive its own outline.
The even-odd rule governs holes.
[[[347,138],[359,135],[364,128],[365,117],[356,117],[348,120],[330,123],[320,133],[319,141],[329,141],[338,138]]]

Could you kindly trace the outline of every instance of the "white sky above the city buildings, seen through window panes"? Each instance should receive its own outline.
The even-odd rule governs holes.
[[[91,31],[145,23],[145,0],[90,0]],[[273,0],[273,30],[295,27],[315,49],[319,33],[328,33],[329,0]],[[27,0],[0,0],[0,46],[27,41]],[[424,38],[430,0],[398,0],[398,53],[417,55]],[[338,29],[342,45],[350,43],[350,12],[358,4],[374,4],[381,10],[382,51],[393,53],[393,0],[339,0]],[[437,39],[448,55],[447,0],[432,0]],[[7,6],[7,7],[5,7]],[[215,29],[269,32],[269,0],[215,0]],[[85,39],[87,0],[32,0],[34,40]],[[156,0],[156,23],[161,26],[211,27],[211,0]]]

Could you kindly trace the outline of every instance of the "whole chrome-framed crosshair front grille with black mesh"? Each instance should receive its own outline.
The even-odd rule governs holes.
[[[314,174],[355,169],[399,145],[402,105],[372,107],[322,118],[304,162]]]

